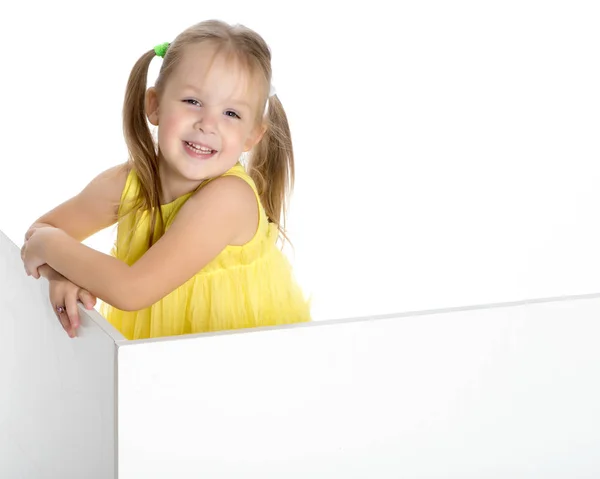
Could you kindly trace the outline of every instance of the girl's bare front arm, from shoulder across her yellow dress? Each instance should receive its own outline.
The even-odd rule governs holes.
[[[56,230],[44,235],[42,259],[106,303],[137,311],[185,283],[227,245],[249,241],[257,226],[254,191],[244,180],[222,177],[195,193],[131,267]]]

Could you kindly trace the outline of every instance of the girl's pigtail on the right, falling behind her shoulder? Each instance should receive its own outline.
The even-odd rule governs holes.
[[[287,115],[276,95],[268,100],[267,131],[252,150],[248,170],[269,221],[287,240],[285,224],[294,187],[294,152]]]

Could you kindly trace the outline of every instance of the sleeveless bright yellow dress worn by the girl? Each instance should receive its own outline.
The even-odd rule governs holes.
[[[224,176],[245,180],[259,205],[255,236],[243,246],[227,246],[195,276],[140,311],[122,311],[106,303],[101,314],[127,339],[155,338],[229,329],[275,326],[310,321],[310,305],[295,282],[292,268],[276,245],[277,227],[269,223],[256,185],[238,163]],[[208,182],[203,183],[200,188]],[[132,170],[121,206],[139,189]],[[162,205],[165,229],[193,193]],[[112,255],[133,265],[147,251],[148,212],[127,215],[117,226]]]

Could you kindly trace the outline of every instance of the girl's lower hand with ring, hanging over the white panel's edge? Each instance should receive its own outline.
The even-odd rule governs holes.
[[[77,312],[77,301],[81,301],[86,309],[92,309],[96,304],[96,297],[89,291],[71,283],[60,273],[45,265],[44,276],[50,283],[50,304],[54,314],[58,317],[63,329],[69,337],[77,336],[76,329],[81,324]],[[61,307],[62,310],[58,308]]]

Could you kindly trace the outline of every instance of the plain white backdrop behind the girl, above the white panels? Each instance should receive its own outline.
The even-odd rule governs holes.
[[[597,2],[386,3],[12,3],[0,229],[20,245],[124,161],[134,62],[220,18],[273,50],[297,161],[293,261],[315,319],[597,292]],[[112,236],[87,243],[108,252]]]

